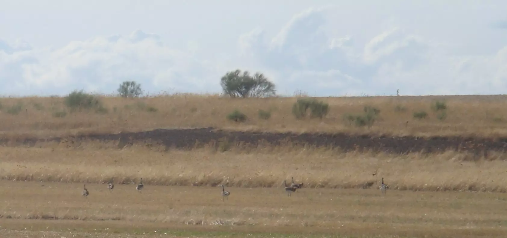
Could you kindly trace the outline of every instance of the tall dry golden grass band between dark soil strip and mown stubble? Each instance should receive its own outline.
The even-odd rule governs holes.
[[[39,148],[41,147],[41,148]],[[305,187],[376,188],[381,177],[391,189],[410,191],[507,192],[507,161],[501,153],[469,161],[466,153],[445,152],[393,156],[341,153],[335,150],[259,147],[218,152],[133,145],[116,149],[115,142],[63,143],[32,148],[0,147],[0,177],[22,181],[149,185],[281,187],[294,177]],[[377,175],[372,175],[377,171]]]

